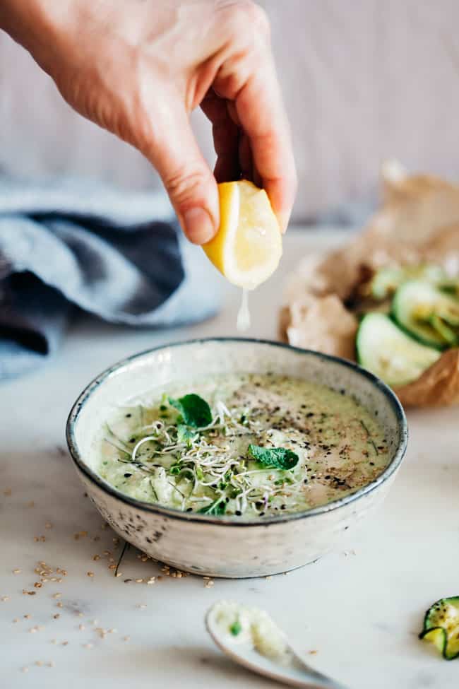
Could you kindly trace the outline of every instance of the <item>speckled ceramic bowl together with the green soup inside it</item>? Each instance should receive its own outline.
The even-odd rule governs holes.
[[[122,538],[178,570],[239,578],[339,546],[387,494],[407,423],[391,389],[346,360],[206,338],[109,367],[66,435]]]

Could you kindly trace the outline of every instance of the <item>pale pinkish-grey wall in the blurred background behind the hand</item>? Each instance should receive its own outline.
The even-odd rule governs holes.
[[[297,220],[364,198],[378,165],[459,177],[458,0],[261,0],[299,170]],[[210,160],[210,133],[193,115]],[[0,168],[158,184],[140,154],[85,122],[0,34]]]

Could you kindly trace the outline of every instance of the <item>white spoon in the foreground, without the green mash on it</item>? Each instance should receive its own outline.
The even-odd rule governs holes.
[[[292,687],[301,687],[303,689],[348,689],[345,685],[335,682],[333,679],[307,665],[294,652],[290,643],[287,642],[287,637],[285,637],[285,653],[282,655],[282,661],[271,659],[256,651],[249,635],[242,635],[244,638],[240,640],[237,637],[232,637],[231,633],[227,632],[218,620],[222,605],[225,604],[225,601],[219,601],[208,609],[205,615],[205,626],[215,644],[232,661],[239,663],[239,665],[252,672]],[[229,603],[229,605],[235,606],[236,604]],[[279,632],[283,635],[283,632],[280,630]]]

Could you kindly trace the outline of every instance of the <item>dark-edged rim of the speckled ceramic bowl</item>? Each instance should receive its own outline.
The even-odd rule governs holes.
[[[390,464],[386,466],[386,469],[384,469],[384,471],[380,473],[379,476],[377,476],[374,479],[374,481],[371,481],[371,483],[367,483],[366,485],[362,486],[362,488],[356,490],[354,493],[350,493],[350,495],[345,495],[345,497],[340,497],[338,500],[327,502],[325,505],[311,507],[311,509],[304,510],[304,512],[287,512],[285,514],[276,515],[275,517],[263,517],[263,519],[260,519],[259,521],[256,521],[254,519],[242,519],[240,517],[211,517],[207,514],[198,514],[197,512],[183,512],[182,510],[177,510],[174,507],[164,507],[155,502],[145,502],[143,500],[136,500],[136,498],[131,497],[130,495],[121,493],[120,490],[117,490],[117,488],[114,488],[114,486],[107,483],[107,481],[101,478],[95,471],[93,471],[93,469],[90,469],[90,466],[88,466],[88,464],[86,464],[86,462],[84,461],[83,457],[81,457],[74,429],[76,427],[76,423],[78,422],[78,417],[81,413],[81,410],[83,409],[83,406],[88,401],[88,399],[90,399],[90,396],[93,394],[95,389],[97,389],[109,377],[116,375],[121,369],[129,366],[131,363],[133,363],[133,361],[136,361],[137,359],[145,357],[149,354],[153,354],[162,349],[179,348],[183,346],[213,342],[234,343],[236,345],[238,343],[244,343],[252,344],[255,346],[261,344],[277,347],[280,349],[291,350],[302,355],[309,355],[322,360],[338,363],[339,365],[352,369],[355,374],[361,375],[368,379],[369,382],[371,382],[371,384],[374,385],[374,387],[378,388],[383,393],[383,395],[386,397],[386,400],[393,408],[398,429],[400,432],[400,441],[398,443],[398,447],[395,451],[395,454],[393,455]],[[379,488],[379,486],[385,483],[388,480],[388,478],[390,478],[393,475],[393,473],[395,473],[395,471],[398,470],[403,460],[403,457],[405,457],[408,442],[408,425],[407,418],[405,416],[405,411],[403,411],[403,406],[400,404],[400,401],[398,400],[398,397],[395,395],[393,390],[390,387],[388,387],[388,385],[386,385],[386,383],[384,383],[380,378],[376,377],[370,371],[359,366],[357,363],[354,363],[347,359],[343,359],[338,356],[324,354],[322,352],[317,352],[311,349],[302,349],[300,347],[294,347],[290,344],[284,342],[277,342],[274,340],[244,337],[203,337],[166,343],[159,345],[157,347],[143,350],[141,352],[129,355],[128,357],[125,357],[124,359],[117,361],[116,363],[112,364],[104,371],[102,371],[90,383],[88,383],[88,385],[83,389],[81,394],[78,395],[76,401],[73,403],[73,406],[71,407],[71,411],[68,414],[68,418],[66,421],[66,442],[71,455],[71,459],[76,465],[76,468],[79,469],[86,476],[86,478],[95,483],[98,488],[101,488],[103,492],[108,493],[112,497],[116,497],[118,500],[121,500],[121,502],[124,502],[131,507],[136,507],[136,509],[143,510],[144,512],[159,514],[162,517],[180,519],[184,522],[201,522],[203,524],[217,524],[219,526],[251,526],[253,528],[263,528],[268,526],[269,524],[283,524],[285,522],[293,522],[297,519],[317,517],[320,514],[326,514],[328,512],[332,512],[333,510],[338,510],[340,507],[345,507],[345,505],[349,505],[351,502],[359,500],[360,497],[364,497],[364,495],[372,493],[374,490],[376,490],[376,488]]]

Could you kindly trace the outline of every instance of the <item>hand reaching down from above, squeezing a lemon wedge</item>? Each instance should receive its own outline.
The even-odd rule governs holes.
[[[84,117],[136,146],[196,244],[219,224],[217,182],[268,192],[285,230],[296,191],[268,20],[250,0],[1,0],[0,27]],[[189,124],[213,124],[215,177]]]

